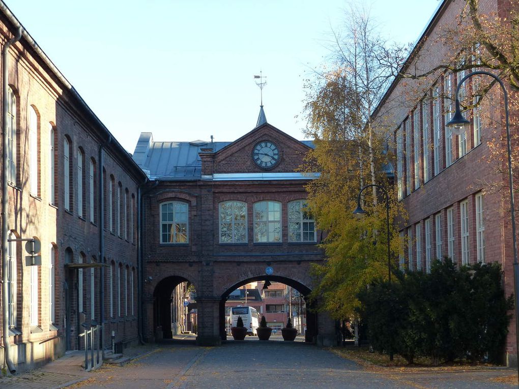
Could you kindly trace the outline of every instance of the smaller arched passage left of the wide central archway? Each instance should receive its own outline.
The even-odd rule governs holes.
[[[182,332],[197,332],[197,307],[192,285],[184,277],[169,276],[155,287],[153,327],[156,340],[171,339]]]

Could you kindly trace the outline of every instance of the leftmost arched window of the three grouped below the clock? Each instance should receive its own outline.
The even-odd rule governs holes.
[[[247,203],[224,201],[220,213],[220,243],[247,243]]]

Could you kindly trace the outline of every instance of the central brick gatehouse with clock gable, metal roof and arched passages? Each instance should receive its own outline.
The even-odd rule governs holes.
[[[155,142],[142,133],[133,154],[143,188],[144,336],[171,337],[171,294],[196,290],[199,344],[226,339],[225,301],[240,286],[269,279],[308,295],[320,232],[305,212],[297,172],[311,143],[267,123],[234,142]],[[307,340],[335,344],[326,315],[308,318]]]

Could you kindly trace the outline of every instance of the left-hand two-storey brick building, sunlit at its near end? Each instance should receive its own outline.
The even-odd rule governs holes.
[[[17,35],[16,41],[7,41]],[[2,353],[33,368],[83,347],[138,339],[138,187],[146,176],[0,3],[3,126]],[[40,266],[26,263],[36,238]],[[84,341],[83,341],[84,343]]]

